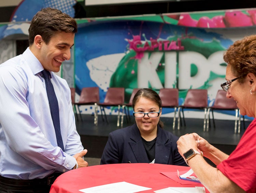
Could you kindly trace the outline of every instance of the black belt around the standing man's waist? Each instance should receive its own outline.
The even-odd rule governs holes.
[[[6,178],[0,176],[0,183],[6,185],[14,185],[14,186],[50,186],[59,177],[62,173],[56,172],[42,179],[31,179],[31,180],[23,180],[23,179],[13,179]]]

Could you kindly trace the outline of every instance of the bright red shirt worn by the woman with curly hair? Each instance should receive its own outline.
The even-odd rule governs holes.
[[[256,192],[256,119],[247,127],[236,149],[217,168],[244,191]]]

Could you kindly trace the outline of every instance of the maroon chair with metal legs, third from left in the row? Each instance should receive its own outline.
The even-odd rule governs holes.
[[[124,101],[125,101],[125,88],[122,88],[122,87],[108,88],[104,102],[98,104],[100,106],[102,120],[104,121],[104,118],[103,118],[103,113],[104,113],[106,122],[109,123],[108,119],[106,117],[105,107],[108,107],[108,106],[118,107],[117,126],[119,127],[119,125],[120,125],[120,107],[122,106],[122,108],[124,108],[123,107]],[[102,111],[103,111],[103,113],[102,113]]]

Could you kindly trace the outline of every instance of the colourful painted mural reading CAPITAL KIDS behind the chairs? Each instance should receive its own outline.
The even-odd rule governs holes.
[[[224,51],[233,41],[255,32],[252,26],[231,35],[233,28],[184,27],[146,17],[90,21],[79,27],[74,56],[76,88],[99,86],[103,101],[108,87],[124,87],[126,102],[133,88],[157,92],[161,88],[178,88],[180,104],[188,89],[207,89],[209,105],[225,82]],[[167,115],[172,112],[173,109],[163,109]],[[109,113],[115,113],[115,109],[109,109]]]

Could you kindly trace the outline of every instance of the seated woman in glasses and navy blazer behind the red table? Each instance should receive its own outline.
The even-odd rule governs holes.
[[[109,134],[100,164],[161,163],[187,166],[177,149],[177,136],[163,128],[161,99],[152,89],[140,89],[133,98],[136,124]]]

